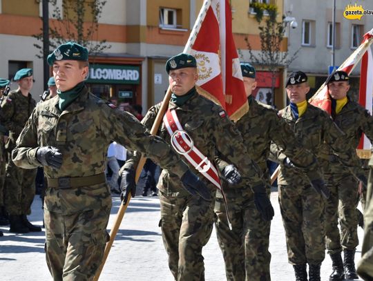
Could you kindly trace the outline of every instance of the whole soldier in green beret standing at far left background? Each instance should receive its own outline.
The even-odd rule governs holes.
[[[35,99],[32,99],[30,90],[33,84],[32,69],[22,68],[15,74],[14,80],[18,82],[17,90],[10,91],[1,103],[0,119],[9,130],[6,142],[8,164],[6,166],[6,211],[9,213],[10,232],[28,233],[41,231],[40,226],[31,224],[26,215],[31,213],[31,204],[35,196],[36,169],[23,169],[12,162],[12,149],[28,117],[35,108]]]

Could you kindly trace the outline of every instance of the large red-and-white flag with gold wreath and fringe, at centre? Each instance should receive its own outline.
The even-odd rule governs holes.
[[[184,48],[198,65],[198,92],[220,104],[233,120],[249,110],[232,35],[228,0],[205,0]]]

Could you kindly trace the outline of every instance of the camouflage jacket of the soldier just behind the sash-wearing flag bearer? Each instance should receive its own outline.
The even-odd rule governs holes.
[[[297,168],[309,173],[312,171],[318,178],[323,177],[317,171],[316,157],[298,142],[289,125],[278,116],[276,110],[255,99],[249,99],[249,106],[249,112],[236,122],[236,127],[242,135],[249,157],[260,166],[268,181],[271,175],[267,168],[267,159],[271,142],[283,148],[283,152]],[[283,162],[284,158],[279,161]],[[219,165],[219,168],[224,166]]]

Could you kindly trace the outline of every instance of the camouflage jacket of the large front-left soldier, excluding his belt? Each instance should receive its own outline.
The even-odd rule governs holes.
[[[149,131],[130,113],[113,109],[88,93],[86,87],[64,111],[59,96],[38,104],[17,139],[12,160],[21,168],[41,166],[36,157],[39,146],[55,146],[63,156],[59,169],[44,166],[48,178],[86,177],[104,173],[111,140],[139,150],[164,168],[182,176],[188,166],[160,137]],[[74,188],[48,188],[45,206],[55,213],[76,213],[111,206],[106,183]]]

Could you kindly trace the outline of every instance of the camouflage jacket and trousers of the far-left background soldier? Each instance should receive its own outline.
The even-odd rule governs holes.
[[[22,95],[20,90],[10,91],[1,103],[0,120],[9,130],[9,137],[5,144],[8,155],[6,175],[4,180],[5,204],[10,215],[30,215],[31,204],[35,196],[36,170],[26,171],[12,163],[12,149],[23,126],[34,110],[36,102],[30,93],[28,97]]]

